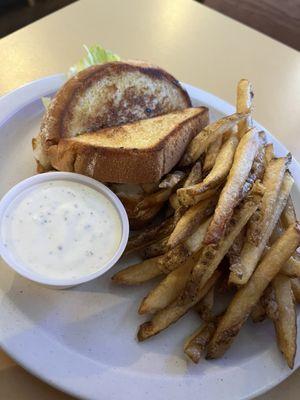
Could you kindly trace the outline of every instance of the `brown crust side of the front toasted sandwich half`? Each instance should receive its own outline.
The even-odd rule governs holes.
[[[185,112],[174,114],[178,113],[184,115]],[[136,125],[140,123],[142,121],[128,124],[128,128],[137,130]],[[197,107],[192,116],[176,124],[152,147],[101,147],[76,138],[62,138],[57,145],[49,147],[48,155],[51,165],[60,171],[81,173],[102,182],[152,183],[160,180],[178,163],[188,143],[207,123],[208,109]],[[103,129],[100,133],[105,135],[113,129],[118,128]]]

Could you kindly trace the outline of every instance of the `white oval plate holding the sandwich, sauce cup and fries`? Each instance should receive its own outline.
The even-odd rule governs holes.
[[[56,75],[35,81],[0,99],[0,196],[35,173],[31,138],[43,113],[40,97],[55,92],[63,79]],[[208,105],[215,117],[234,111],[217,97],[186,87],[194,104]],[[275,143],[277,153],[285,154],[286,149]],[[299,203],[300,167],[295,161],[292,172]],[[199,324],[193,313],[138,343],[136,328],[143,318],[137,316],[137,305],[151,285],[112,286],[110,277],[120,267],[98,280],[55,291],[16,275],[1,261],[2,348],[41,379],[87,399],[182,400],[196,394],[209,400],[241,400],[291,373],[268,321],[255,326],[249,322],[223,359],[203,360],[197,366],[182,352],[183,340]],[[298,354],[296,367],[299,364]]]

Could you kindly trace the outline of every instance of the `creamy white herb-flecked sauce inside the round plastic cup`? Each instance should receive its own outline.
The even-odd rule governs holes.
[[[63,180],[37,184],[17,196],[1,229],[4,246],[16,260],[52,279],[99,271],[122,237],[119,214],[108,198]]]

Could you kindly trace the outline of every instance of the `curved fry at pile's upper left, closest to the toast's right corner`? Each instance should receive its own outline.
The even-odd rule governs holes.
[[[213,143],[217,137],[233,128],[238,122],[247,118],[249,114],[232,114],[227,117],[221,118],[210,125],[207,125],[188,145],[184,156],[180,164],[187,166],[193,164],[201,154],[207,149],[207,147]]]

